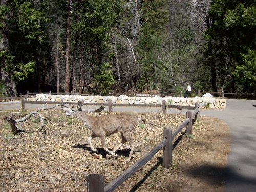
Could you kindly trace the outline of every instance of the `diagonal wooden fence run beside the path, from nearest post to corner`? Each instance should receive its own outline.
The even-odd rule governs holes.
[[[192,134],[193,118],[199,117],[199,103],[196,105],[196,109],[191,112],[187,111],[187,118],[172,132],[172,127],[165,127],[163,130],[163,140],[157,144],[150,152],[144,157],[135,162],[131,167],[126,169],[120,176],[118,176],[111,183],[104,186],[104,177],[101,174],[89,174],[87,176],[87,191],[88,192],[110,192],[115,190],[124,181],[131,177],[140,167],[150,161],[154,155],[161,149],[163,149],[163,161],[162,166],[169,168],[172,165],[172,140],[173,138],[183,130],[186,126],[187,134]]]

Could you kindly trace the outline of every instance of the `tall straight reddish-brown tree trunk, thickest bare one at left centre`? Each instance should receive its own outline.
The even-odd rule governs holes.
[[[66,39],[66,77],[65,77],[65,92],[69,92],[69,41],[70,41],[70,7],[71,0],[68,0],[67,13],[67,39]]]

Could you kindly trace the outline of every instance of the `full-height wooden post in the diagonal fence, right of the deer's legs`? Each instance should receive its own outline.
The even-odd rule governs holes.
[[[172,156],[173,156],[173,137],[172,137],[172,127],[164,128],[163,138],[167,139],[165,147],[163,147],[163,163],[164,168],[169,168],[172,166]]]

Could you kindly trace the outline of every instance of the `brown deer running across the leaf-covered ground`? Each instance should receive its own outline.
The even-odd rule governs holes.
[[[124,161],[128,162],[131,160],[131,157],[134,152],[135,143],[133,141],[132,133],[135,130],[136,126],[143,122],[145,123],[145,119],[135,117],[131,114],[108,114],[102,116],[90,116],[87,114],[86,111],[81,109],[81,104],[78,102],[76,108],[65,108],[62,107],[61,109],[66,111],[66,115],[75,115],[80,118],[83,123],[88,127],[91,131],[92,135],[88,137],[88,142],[92,151],[98,153],[98,150],[94,148],[92,144],[92,139],[99,137],[102,147],[105,151],[117,157],[118,155],[115,152],[126,142],[129,142],[131,145],[131,151],[129,157]],[[122,141],[121,143],[114,148],[114,150],[110,151],[106,147],[106,137],[120,132]]]

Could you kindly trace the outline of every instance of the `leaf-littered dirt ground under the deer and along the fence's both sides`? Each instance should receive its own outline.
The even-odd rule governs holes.
[[[14,119],[29,113],[20,112]],[[129,144],[113,157],[95,139],[99,154],[92,153],[87,142],[90,131],[80,119],[66,117],[58,110],[40,114],[48,117],[46,134],[38,131],[38,119],[30,118],[23,124],[26,133],[20,137],[12,135],[6,121],[10,114],[0,113],[1,191],[86,191],[90,173],[102,174],[107,184],[158,144],[164,127],[175,130],[185,119],[182,115],[135,114],[146,119],[146,124],[139,124],[133,133],[135,153],[130,162],[123,163]],[[120,143],[120,134],[108,137],[107,142],[113,149]],[[229,143],[229,129],[223,121],[200,117],[193,125],[193,136],[182,132],[174,138],[171,168],[162,168],[159,151],[115,191],[223,191]]]

